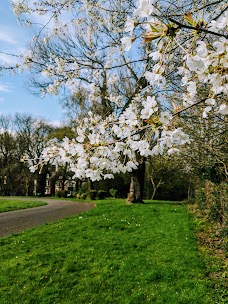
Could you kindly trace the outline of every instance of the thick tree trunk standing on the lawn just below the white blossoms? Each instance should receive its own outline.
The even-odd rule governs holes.
[[[131,204],[143,203],[143,190],[145,179],[145,160],[134,170],[131,175],[130,189],[127,197],[127,202]]]

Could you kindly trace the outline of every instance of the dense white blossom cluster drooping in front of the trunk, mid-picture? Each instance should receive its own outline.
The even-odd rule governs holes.
[[[154,99],[153,102],[156,103]],[[41,155],[41,164],[68,163],[74,178],[95,181],[136,170],[139,155],[147,157],[164,151],[170,155],[179,151],[177,146],[190,141],[181,128],[166,130],[164,125],[159,135],[153,124],[143,123],[143,110],[132,104],[119,117],[112,114],[105,120],[89,112],[83,123],[79,122],[75,139],[65,137],[62,142],[49,142]],[[159,119],[164,117],[161,112]],[[32,166],[30,170],[34,172],[37,167]]]

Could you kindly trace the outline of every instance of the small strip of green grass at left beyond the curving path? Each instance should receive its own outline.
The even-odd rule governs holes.
[[[45,202],[39,201],[23,201],[23,200],[14,200],[14,199],[7,199],[7,198],[0,198],[0,213],[19,210],[19,209],[27,209],[27,208],[34,208],[39,206],[47,205]]]

